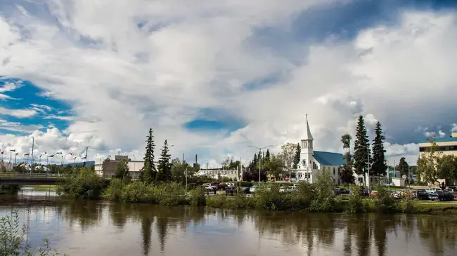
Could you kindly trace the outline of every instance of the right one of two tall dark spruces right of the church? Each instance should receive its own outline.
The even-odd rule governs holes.
[[[378,121],[375,128],[375,140],[373,140],[373,165],[370,169],[370,173],[378,177],[387,174],[384,140],[381,123]]]

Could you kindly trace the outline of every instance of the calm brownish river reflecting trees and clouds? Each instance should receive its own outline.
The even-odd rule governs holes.
[[[28,241],[70,256],[455,255],[453,215],[345,215],[69,201],[49,191],[0,195]]]

